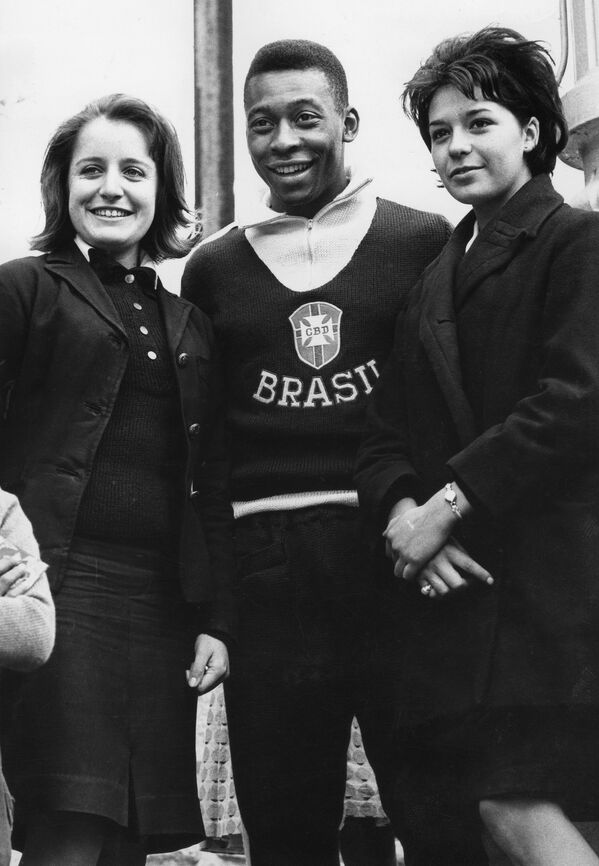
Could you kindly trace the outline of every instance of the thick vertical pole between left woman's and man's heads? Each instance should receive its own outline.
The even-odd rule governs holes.
[[[204,237],[231,222],[232,0],[194,0],[195,199]]]

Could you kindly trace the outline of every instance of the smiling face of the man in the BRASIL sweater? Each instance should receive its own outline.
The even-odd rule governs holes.
[[[254,167],[279,213],[313,217],[346,186],[344,144],[353,108],[340,111],[320,69],[263,72],[248,82],[246,135]]]

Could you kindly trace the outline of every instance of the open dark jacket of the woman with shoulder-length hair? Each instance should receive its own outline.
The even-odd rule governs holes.
[[[186,431],[180,579],[202,628],[231,635],[232,515],[208,319],[158,284]],[[56,592],[128,357],[110,297],[75,244],[0,266],[0,484],[30,518]]]

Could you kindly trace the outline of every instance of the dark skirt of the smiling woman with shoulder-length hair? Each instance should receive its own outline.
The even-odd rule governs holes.
[[[185,678],[197,614],[176,564],[78,541],[55,602],[54,653],[15,702],[17,841],[32,808],[109,818],[148,853],[201,841],[197,696]]]

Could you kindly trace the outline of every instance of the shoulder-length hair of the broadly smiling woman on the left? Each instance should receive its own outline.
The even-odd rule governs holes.
[[[98,117],[136,126],[156,163],[156,212],[142,240],[144,250],[155,261],[186,255],[199,240],[199,224],[196,214],[185,202],[185,172],[177,133],[154,108],[123,93],[112,93],[90,102],[61,123],[50,139],[41,174],[46,224],[32,239],[31,248],[50,252],[75,236],[68,209],[69,167],[77,136],[87,123]],[[181,229],[186,230],[186,237],[181,236]]]

